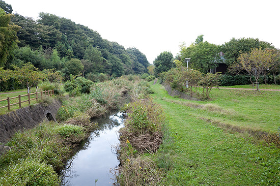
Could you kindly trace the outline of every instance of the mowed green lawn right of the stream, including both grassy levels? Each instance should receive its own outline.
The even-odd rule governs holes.
[[[280,92],[213,89],[212,100],[195,102],[152,88],[174,138],[158,152],[174,149],[163,185],[280,185],[279,148],[206,121],[277,133]]]

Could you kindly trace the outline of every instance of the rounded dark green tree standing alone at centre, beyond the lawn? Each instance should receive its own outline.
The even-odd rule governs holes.
[[[159,73],[167,72],[171,68],[175,67],[173,60],[174,58],[171,52],[169,51],[161,52],[154,60],[155,74],[158,75]]]

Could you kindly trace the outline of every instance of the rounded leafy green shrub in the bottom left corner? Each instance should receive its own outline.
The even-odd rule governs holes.
[[[0,177],[0,185],[59,185],[60,180],[50,165],[38,160],[23,160],[10,166]]]

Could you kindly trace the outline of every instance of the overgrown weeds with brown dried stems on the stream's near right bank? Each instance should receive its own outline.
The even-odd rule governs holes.
[[[158,185],[163,170],[153,159],[162,143],[165,116],[162,108],[147,98],[126,106],[128,117],[120,131],[121,167],[117,177],[121,185]],[[152,157],[143,153],[153,154]]]

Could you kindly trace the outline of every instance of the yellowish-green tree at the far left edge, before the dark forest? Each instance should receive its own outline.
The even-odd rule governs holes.
[[[0,67],[4,67],[9,57],[12,57],[13,50],[17,47],[16,33],[19,26],[10,24],[12,14],[0,8]]]

